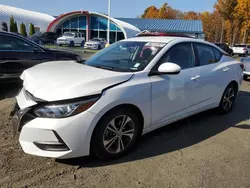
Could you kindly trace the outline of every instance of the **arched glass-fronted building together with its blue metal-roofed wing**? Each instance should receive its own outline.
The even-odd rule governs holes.
[[[86,40],[94,37],[107,37],[107,15],[74,11],[58,16],[47,28],[48,32],[62,35],[66,31],[79,31],[85,34]],[[204,39],[200,20],[167,20],[140,18],[111,18],[110,40],[112,42],[135,36],[141,31],[168,32],[187,34]]]

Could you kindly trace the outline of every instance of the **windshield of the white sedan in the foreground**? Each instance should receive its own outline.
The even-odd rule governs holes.
[[[86,65],[119,72],[143,70],[166,43],[122,41],[101,50]]]

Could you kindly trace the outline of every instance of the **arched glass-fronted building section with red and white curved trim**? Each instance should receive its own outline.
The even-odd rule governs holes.
[[[94,37],[106,38],[108,28],[108,16],[96,12],[74,11],[58,16],[52,21],[48,32],[56,32],[62,35],[66,31],[82,32],[86,40]],[[110,18],[110,40],[118,41],[135,36],[140,30],[132,24]]]

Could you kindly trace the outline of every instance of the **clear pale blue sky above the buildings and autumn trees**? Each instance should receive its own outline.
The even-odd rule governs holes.
[[[134,18],[154,5],[160,7],[167,2],[172,8],[181,11],[213,11],[216,0],[111,0],[111,16]],[[23,8],[58,16],[74,10],[87,10],[107,13],[108,0],[0,0],[0,4]]]

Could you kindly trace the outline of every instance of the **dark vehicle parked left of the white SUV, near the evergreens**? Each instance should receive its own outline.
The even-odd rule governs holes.
[[[30,40],[34,41],[37,44],[56,44],[57,34],[54,32],[37,32],[34,35],[30,36]]]

